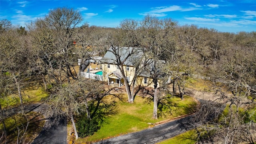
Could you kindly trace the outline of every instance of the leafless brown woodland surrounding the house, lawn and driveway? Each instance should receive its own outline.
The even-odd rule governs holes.
[[[222,112],[210,102],[202,104],[190,122],[198,132],[197,141],[255,142],[256,32],[235,34],[192,24],[180,26],[171,18],[150,15],[142,20],[123,20],[117,28],[89,26],[81,24],[82,21],[78,11],[66,7],[50,10],[44,18],[28,23],[26,29],[1,20],[1,99],[18,94],[21,112],[26,115],[21,91],[32,85],[42,86],[49,93],[46,100],[49,114],[69,118],[78,138],[74,116],[85,112],[89,120],[98,121],[104,115],[99,116],[100,104],[105,104],[107,114],[112,112],[107,105],[114,103],[102,100],[111,90],[104,89],[102,82],[80,77],[80,71],[75,70],[77,59],[103,56],[111,46],[141,48],[144,67],[138,68],[137,73],[146,71],[153,79],[153,118],[157,118],[158,105],[164,102],[166,94],[179,94],[181,98],[186,94],[189,74],[208,76],[212,78],[212,90],[227,107]],[[120,57],[118,53],[115,55]],[[122,63],[118,61],[119,66]],[[158,86],[158,80],[170,77],[171,83]],[[134,86],[128,83],[125,86],[128,101],[136,101]],[[4,126],[1,103],[0,111]],[[2,130],[4,136],[6,130]]]

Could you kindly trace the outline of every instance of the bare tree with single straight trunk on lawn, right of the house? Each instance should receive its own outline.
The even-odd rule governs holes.
[[[159,20],[154,16],[148,15],[140,21],[140,25],[140,32],[143,33],[141,46],[145,48],[144,68],[154,83],[153,118],[157,119],[157,106],[160,101],[160,96],[158,96],[158,80],[166,79],[163,78],[166,76],[164,74],[164,63],[169,58],[174,57],[174,28],[177,22],[170,18]],[[166,82],[162,83],[165,84]]]

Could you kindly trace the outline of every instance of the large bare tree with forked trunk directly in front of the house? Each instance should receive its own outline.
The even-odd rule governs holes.
[[[120,22],[120,28],[109,33],[106,43],[110,45],[108,52],[113,55],[108,60],[116,64],[124,79],[124,85],[128,95],[128,102],[134,101],[135,81],[141,72],[140,59],[142,50],[139,48],[138,22],[136,20],[126,19]],[[107,61],[106,61],[107,62]],[[134,67],[134,76],[128,81],[125,66]]]

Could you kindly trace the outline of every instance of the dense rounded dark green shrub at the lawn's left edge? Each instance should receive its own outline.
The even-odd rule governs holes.
[[[94,132],[97,132],[100,129],[99,123],[95,119],[81,118],[76,123],[78,130],[78,135],[81,138],[86,136],[92,136]]]

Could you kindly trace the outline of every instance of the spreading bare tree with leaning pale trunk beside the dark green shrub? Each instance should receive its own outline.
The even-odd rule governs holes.
[[[76,139],[78,132],[74,117],[81,112],[86,111],[87,118],[92,119],[98,110],[104,96],[109,94],[110,90],[104,90],[103,84],[92,79],[83,79],[65,83],[60,87],[54,87],[47,103],[50,105],[49,114],[51,116],[65,116],[70,118]],[[91,112],[92,106],[96,100],[96,108]]]

